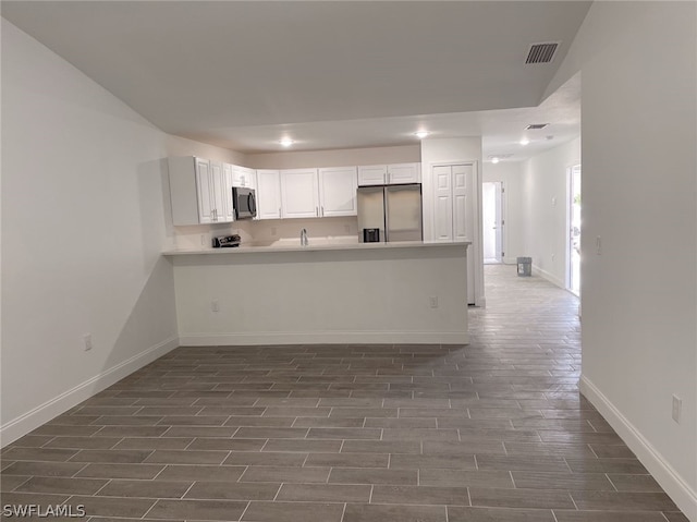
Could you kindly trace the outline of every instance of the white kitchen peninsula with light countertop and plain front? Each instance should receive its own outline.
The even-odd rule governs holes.
[[[296,241],[164,252],[180,343],[467,343],[468,244]]]

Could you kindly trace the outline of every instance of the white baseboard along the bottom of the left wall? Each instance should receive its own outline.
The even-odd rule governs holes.
[[[133,372],[151,363],[156,359],[161,357],[179,345],[178,337],[167,339],[148,348],[144,352],[140,352],[137,355],[99,373],[74,388],[64,391],[50,401],[36,406],[34,410],[13,418],[0,427],[0,440],[2,441],[2,446],[7,446],[8,444],[15,441],[20,437],[28,434],[33,429],[36,429],[40,425],[70,410],[74,405],[80,404],[82,401],[89,399],[122,378],[127,377]]]

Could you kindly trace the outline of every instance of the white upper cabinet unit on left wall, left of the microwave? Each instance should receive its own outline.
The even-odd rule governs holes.
[[[194,156],[169,158],[170,198],[174,226],[231,221],[222,163]]]

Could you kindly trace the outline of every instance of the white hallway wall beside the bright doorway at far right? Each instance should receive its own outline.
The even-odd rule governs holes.
[[[562,288],[567,264],[566,172],[579,162],[580,138],[576,138],[523,163],[525,255],[533,257],[538,275]]]

